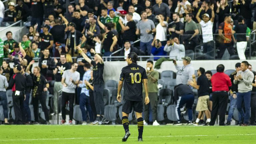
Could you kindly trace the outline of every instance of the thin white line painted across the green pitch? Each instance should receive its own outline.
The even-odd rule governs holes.
[[[174,136],[144,136],[143,138],[154,138],[154,137],[199,137],[199,136],[246,136],[256,134],[217,134],[217,135],[174,135]],[[123,137],[87,137],[87,138],[52,138],[52,139],[8,139],[0,141],[35,141],[35,140],[70,140],[70,139],[106,139],[106,138],[123,138]],[[137,138],[137,137],[130,137]]]

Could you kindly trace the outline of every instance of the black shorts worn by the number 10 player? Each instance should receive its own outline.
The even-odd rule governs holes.
[[[123,99],[122,112],[129,114],[132,112],[132,108],[134,111],[136,111],[138,113],[142,113],[142,111],[143,111],[142,100],[141,101],[131,101],[131,100]]]

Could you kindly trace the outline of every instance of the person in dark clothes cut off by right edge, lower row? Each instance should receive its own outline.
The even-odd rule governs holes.
[[[251,123],[250,125],[256,125],[255,124],[255,119],[256,119],[256,95],[255,95],[255,91],[256,91],[256,83],[255,83],[255,75],[256,73],[252,70],[252,65],[249,64],[248,69],[254,74],[254,79],[252,83],[252,96],[251,96]]]

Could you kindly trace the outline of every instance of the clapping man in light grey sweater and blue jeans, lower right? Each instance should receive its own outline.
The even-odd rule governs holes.
[[[242,126],[248,126],[250,119],[251,91],[254,74],[248,70],[248,66],[249,63],[247,61],[243,61],[241,63],[241,71],[237,72],[237,74],[234,76],[234,84],[238,83],[236,104],[237,110],[241,116],[241,121],[239,121],[239,123]],[[245,106],[245,113],[242,109],[243,102]]]

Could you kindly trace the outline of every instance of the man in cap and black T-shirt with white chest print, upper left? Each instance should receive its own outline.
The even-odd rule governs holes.
[[[39,42],[40,42],[40,50],[41,51],[48,49],[51,52],[51,50],[52,50],[53,37],[52,37],[52,34],[48,32],[49,29],[50,29],[49,25],[44,25],[43,33],[40,33]]]

